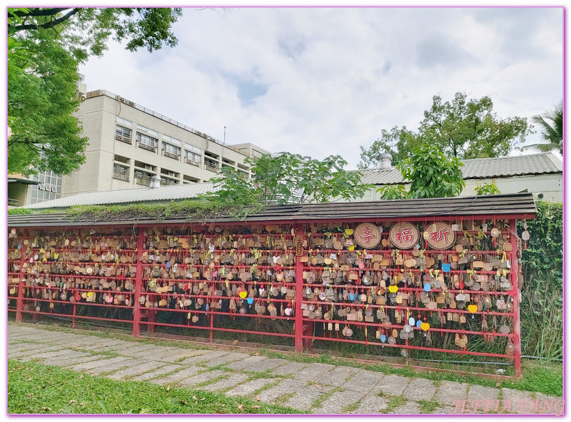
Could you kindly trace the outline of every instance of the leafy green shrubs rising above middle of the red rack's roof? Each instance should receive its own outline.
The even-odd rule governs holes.
[[[283,205],[361,198],[370,187],[361,183],[359,172],[344,169],[347,162],[339,155],[312,160],[292,153],[266,154],[246,162],[251,165],[251,179],[239,176],[234,169],[224,169],[221,177],[214,179],[221,189],[207,196]]]

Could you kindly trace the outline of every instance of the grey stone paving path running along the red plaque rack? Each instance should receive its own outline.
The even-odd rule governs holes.
[[[557,413],[562,408],[561,398],[528,391],[230,351],[155,346],[15,323],[8,323],[8,358],[114,380],[218,391],[318,414],[488,413],[508,408],[511,413]]]

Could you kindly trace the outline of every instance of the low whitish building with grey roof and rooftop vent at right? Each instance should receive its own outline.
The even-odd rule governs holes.
[[[466,186],[460,196],[473,196],[475,189],[493,183],[502,194],[532,192],[543,201],[563,202],[563,162],[552,153],[462,160]],[[381,154],[376,169],[361,170],[362,181],[375,185],[359,201],[376,201],[376,189],[402,185],[402,174],[391,166],[391,155]],[[409,189],[409,185],[405,185]]]

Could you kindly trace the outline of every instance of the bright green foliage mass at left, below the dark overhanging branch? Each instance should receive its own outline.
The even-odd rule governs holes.
[[[8,173],[69,174],[85,162],[87,146],[71,116],[78,107],[77,60],[44,31],[19,46],[26,58],[16,58],[15,68],[25,71],[8,74]]]

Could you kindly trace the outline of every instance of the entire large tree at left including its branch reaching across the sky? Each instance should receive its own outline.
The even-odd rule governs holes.
[[[173,47],[180,8],[8,8],[8,171],[70,174],[85,162],[77,65],[110,37],[126,49]]]

